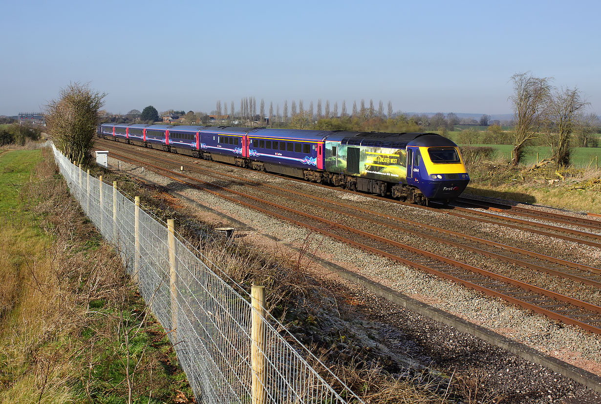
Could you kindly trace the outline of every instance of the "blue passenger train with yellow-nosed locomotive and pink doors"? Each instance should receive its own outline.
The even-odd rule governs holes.
[[[459,147],[438,133],[103,123],[97,136],[421,205],[469,183]]]

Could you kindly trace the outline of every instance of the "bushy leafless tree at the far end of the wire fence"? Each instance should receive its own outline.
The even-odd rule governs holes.
[[[89,84],[75,82],[61,88],[59,99],[44,108],[46,131],[76,164],[84,162],[92,147],[104,97],[106,93],[92,90]]]

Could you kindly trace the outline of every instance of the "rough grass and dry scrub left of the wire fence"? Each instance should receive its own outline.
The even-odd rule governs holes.
[[[192,402],[52,152],[0,150],[0,402]]]

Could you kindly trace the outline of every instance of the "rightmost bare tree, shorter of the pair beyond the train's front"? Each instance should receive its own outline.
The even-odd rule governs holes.
[[[570,137],[578,114],[590,105],[582,99],[578,88],[555,90],[549,99],[548,128],[552,159],[558,166],[570,164]]]

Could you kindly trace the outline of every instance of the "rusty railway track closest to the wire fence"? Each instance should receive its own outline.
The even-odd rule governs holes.
[[[537,313],[545,314],[546,316],[551,317],[552,319],[561,320],[564,323],[577,325],[587,331],[596,332],[597,334],[601,334],[601,328],[591,325],[591,323],[590,323],[590,322],[601,322],[601,319],[591,319],[591,320],[589,320],[589,322],[584,322],[584,321],[574,318],[576,316],[570,317],[570,316],[567,316],[566,314],[562,314],[561,311],[558,312],[558,310],[557,310],[558,307],[561,307],[561,308],[566,309],[565,313],[578,313],[577,316],[579,316],[579,317],[601,317],[601,315],[600,315],[601,307],[599,307],[597,305],[590,304],[590,303],[584,302],[584,301],[580,301],[578,299],[573,299],[573,298],[570,298],[569,296],[561,295],[560,293],[555,293],[550,290],[546,290],[546,289],[542,289],[537,286],[533,286],[531,284],[523,283],[521,281],[517,281],[517,280],[511,279],[508,277],[504,277],[503,275],[494,274],[493,272],[489,272],[484,269],[475,268],[474,266],[471,266],[471,265],[468,265],[465,263],[457,262],[455,260],[448,259],[446,257],[441,257],[436,254],[420,250],[418,248],[413,248],[411,246],[403,245],[402,243],[398,243],[398,242],[395,242],[394,240],[386,239],[385,237],[380,237],[375,234],[369,234],[369,233],[366,233],[365,231],[358,230],[356,228],[352,228],[352,227],[349,227],[349,226],[346,226],[343,224],[339,224],[337,222],[330,221],[328,219],[319,218],[318,216],[314,216],[314,215],[311,215],[311,214],[305,213],[305,212],[300,212],[300,211],[292,209],[290,207],[285,207],[285,206],[282,206],[280,204],[276,204],[276,203],[273,203],[270,201],[262,200],[261,198],[253,197],[252,195],[246,195],[246,194],[243,194],[242,192],[234,191],[232,189],[228,189],[223,186],[216,185],[214,183],[205,182],[205,181],[197,179],[195,177],[186,176],[186,174],[177,173],[172,170],[168,170],[166,168],[163,168],[163,167],[160,167],[160,166],[157,166],[154,164],[139,161],[138,159],[130,158],[130,157],[123,156],[123,155],[120,155],[120,156],[122,159],[138,162],[138,163],[147,165],[149,167],[153,167],[159,171],[167,172],[169,174],[175,174],[179,177],[183,177],[183,178],[192,180],[194,182],[198,182],[198,183],[201,183],[201,184],[204,184],[207,186],[212,186],[212,187],[221,189],[222,191],[231,192],[234,195],[237,195],[238,198],[234,198],[234,197],[230,197],[228,195],[221,194],[217,191],[213,191],[212,189],[206,188],[206,186],[198,186],[198,185],[189,183],[185,180],[182,180],[182,179],[179,179],[176,177],[172,177],[169,175],[166,176],[169,179],[175,180],[180,183],[184,183],[184,184],[186,184],[188,186],[192,186],[194,188],[202,189],[203,191],[210,192],[213,195],[233,201],[234,203],[243,204],[244,206],[251,207],[252,209],[260,210],[261,212],[284,219],[285,221],[291,221],[291,222],[294,222],[294,224],[301,225],[302,227],[310,228],[311,230],[315,230],[315,231],[319,231],[319,233],[326,234],[330,237],[334,237],[335,239],[341,240],[346,243],[350,243],[351,245],[358,246],[359,248],[367,249],[368,251],[372,251],[374,253],[389,257],[397,262],[401,262],[408,266],[412,266],[413,268],[422,269],[423,271],[429,272],[430,274],[438,275],[439,277],[447,278],[448,280],[452,280],[452,281],[456,281],[457,283],[464,284],[465,286],[471,287],[472,289],[480,290],[481,292],[487,293],[489,295],[503,298],[514,304],[520,305],[521,307],[528,308],[529,310],[533,310]],[[160,175],[163,175],[163,174],[160,174]],[[242,201],[242,200],[240,200],[239,197],[248,198],[251,201],[254,201],[254,203]],[[426,259],[434,260],[435,262],[439,262],[438,265],[440,265],[440,263],[444,263],[444,264],[453,266],[456,269],[464,269],[468,272],[471,272],[472,275],[468,275],[468,277],[474,278],[474,277],[483,276],[483,277],[489,278],[489,281],[493,280],[493,283],[494,283],[494,281],[499,281],[502,284],[504,284],[505,286],[501,286],[498,289],[503,290],[505,293],[499,292],[499,290],[491,289],[490,286],[492,286],[492,284],[490,284],[490,283],[487,284],[488,286],[478,285],[471,281],[454,276],[453,272],[451,272],[451,271],[444,272],[444,271],[441,271],[440,269],[431,268],[430,266],[423,265],[421,263],[417,263],[414,260],[404,259],[403,257],[398,256],[398,254],[389,253],[388,251],[385,251],[385,249],[376,248],[373,245],[369,245],[368,243],[365,243],[365,242],[357,242],[355,240],[349,239],[348,237],[344,237],[344,236],[340,236],[339,234],[332,233],[331,230],[326,230],[322,227],[307,224],[307,223],[299,221],[297,219],[290,218],[289,216],[282,215],[281,213],[273,212],[273,210],[269,210],[269,209],[265,209],[263,207],[257,206],[257,203],[267,204],[267,206],[272,206],[272,207],[275,207],[276,209],[284,210],[285,212],[292,213],[293,215],[299,215],[299,216],[302,216],[305,218],[313,219],[314,221],[325,224],[328,227],[338,228],[338,229],[346,231],[346,232],[357,234],[368,240],[372,240],[371,242],[376,241],[376,242],[382,243],[385,246],[395,246],[395,247],[400,248],[408,253],[419,254],[419,256],[425,257]],[[434,265],[432,265],[432,266],[434,266]],[[509,288],[507,288],[507,285],[511,285],[514,288],[512,288],[511,286]],[[514,290],[515,288],[517,288],[517,290]],[[513,293],[514,296],[508,295],[507,292]],[[534,295],[528,295],[528,293],[530,293],[530,294],[534,293]],[[531,299],[532,301],[535,301],[535,302],[554,303],[554,301],[555,301],[555,303],[557,303],[557,301],[561,301],[561,302],[564,302],[564,304],[547,304],[546,306],[545,305],[541,306],[538,304],[533,304],[531,302],[528,302],[525,299],[519,299],[516,297],[516,296],[520,296],[520,295],[526,295],[523,297]],[[588,311],[589,313],[582,313],[581,309],[573,309],[573,308],[570,308],[569,305],[572,305],[573,307],[579,307],[581,309],[584,309],[585,311]],[[551,307],[556,308],[556,310],[555,311],[549,310],[549,308],[551,308]]]

